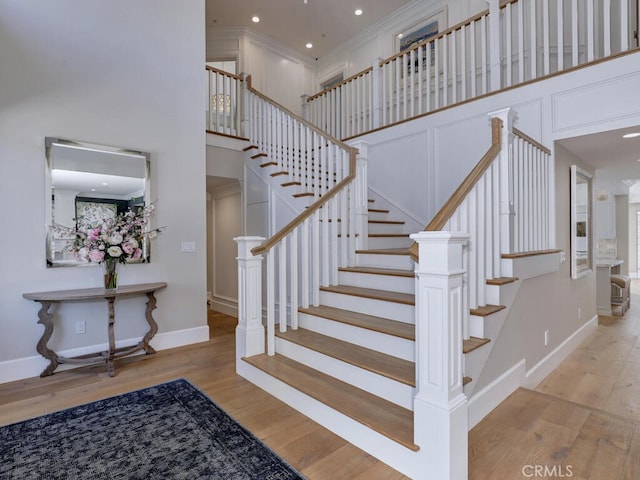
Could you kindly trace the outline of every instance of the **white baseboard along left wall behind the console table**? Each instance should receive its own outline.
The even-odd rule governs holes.
[[[209,327],[195,327],[185,330],[174,330],[173,332],[158,333],[153,340],[151,346],[156,350],[166,350],[169,348],[181,347],[192,343],[206,342],[209,340]],[[124,347],[136,345],[140,341],[136,339],[126,339],[116,341],[116,347]],[[91,345],[88,347],[73,348],[58,352],[62,357],[77,357],[78,355],[87,355],[95,352],[106,351],[108,345],[106,343]],[[143,354],[141,351],[138,354]],[[49,365],[49,361],[40,356],[33,355],[30,357],[17,358],[15,360],[7,360],[0,362],[0,383],[13,382],[23,378],[37,377]],[[62,364],[58,366],[56,372],[77,368],[80,365]],[[116,365],[117,369],[117,365]]]

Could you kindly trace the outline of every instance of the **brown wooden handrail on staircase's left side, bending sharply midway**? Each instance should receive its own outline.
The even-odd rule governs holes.
[[[277,102],[274,102],[273,100],[271,100],[267,96],[265,96],[262,93],[260,93],[257,90],[255,90],[251,86],[251,76],[247,77],[247,89],[249,91],[251,91],[254,95],[256,95],[259,98],[261,98],[262,100],[264,100],[266,102],[269,102],[270,104],[274,105],[275,107],[277,107],[280,110],[282,110],[283,112],[285,112],[287,115],[293,117],[296,121],[298,121],[302,125],[304,125],[307,128],[313,130],[314,132],[317,132],[318,134],[320,134],[326,140],[336,144],[337,146],[339,146],[343,150],[346,150],[347,152],[349,152],[349,173],[342,180],[340,180],[340,182],[338,182],[336,185],[334,185],[333,188],[331,188],[330,190],[325,192],[325,194],[322,195],[322,197],[320,197],[318,200],[313,202],[308,208],[306,208],[304,212],[300,213],[300,215],[298,215],[296,218],[291,220],[287,225],[285,225],[283,228],[281,228],[280,231],[278,231],[275,235],[273,235],[271,238],[266,240],[264,243],[262,243],[261,245],[258,245],[257,247],[255,247],[255,248],[253,248],[251,250],[251,253],[253,255],[260,255],[262,253],[265,253],[265,252],[271,250],[284,237],[289,235],[298,226],[302,225],[302,222],[304,222],[307,218],[309,218],[311,215],[313,215],[315,212],[317,212],[320,209],[320,207],[322,207],[325,203],[327,203],[329,200],[331,200],[333,197],[335,197],[344,187],[346,187],[355,178],[355,176],[356,176],[356,174],[355,174],[355,172],[356,172],[356,155],[358,154],[358,149],[350,147],[346,143],[343,143],[340,140],[338,140],[338,139],[332,137],[331,135],[327,134],[326,132],[323,132],[318,127],[312,125],[311,123],[307,122],[306,120],[304,120],[303,118],[299,117],[295,113],[291,112],[289,109],[283,107],[282,105],[278,104]]]

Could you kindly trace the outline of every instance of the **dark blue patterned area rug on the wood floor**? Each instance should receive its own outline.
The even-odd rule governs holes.
[[[0,428],[0,479],[303,479],[186,380]]]

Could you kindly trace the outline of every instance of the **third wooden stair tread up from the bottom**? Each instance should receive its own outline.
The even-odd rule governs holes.
[[[365,328],[378,333],[393,335],[414,341],[416,339],[416,329],[410,323],[399,322],[388,318],[375,317],[351,310],[319,305],[317,307],[299,308],[300,313],[314,315],[316,317],[327,318],[336,322],[345,323],[354,327]]]

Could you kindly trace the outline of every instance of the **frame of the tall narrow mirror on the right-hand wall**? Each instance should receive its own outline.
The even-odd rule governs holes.
[[[587,185],[587,198],[584,212],[580,211],[581,203],[578,198],[578,184]],[[571,278],[580,278],[593,271],[593,185],[591,173],[577,165],[571,166]],[[584,216],[584,217],[583,217]],[[584,220],[582,220],[584,218]],[[586,225],[578,229],[578,222],[586,222]],[[586,237],[586,250],[579,248],[578,238]],[[579,252],[586,252],[586,262],[579,261]]]

